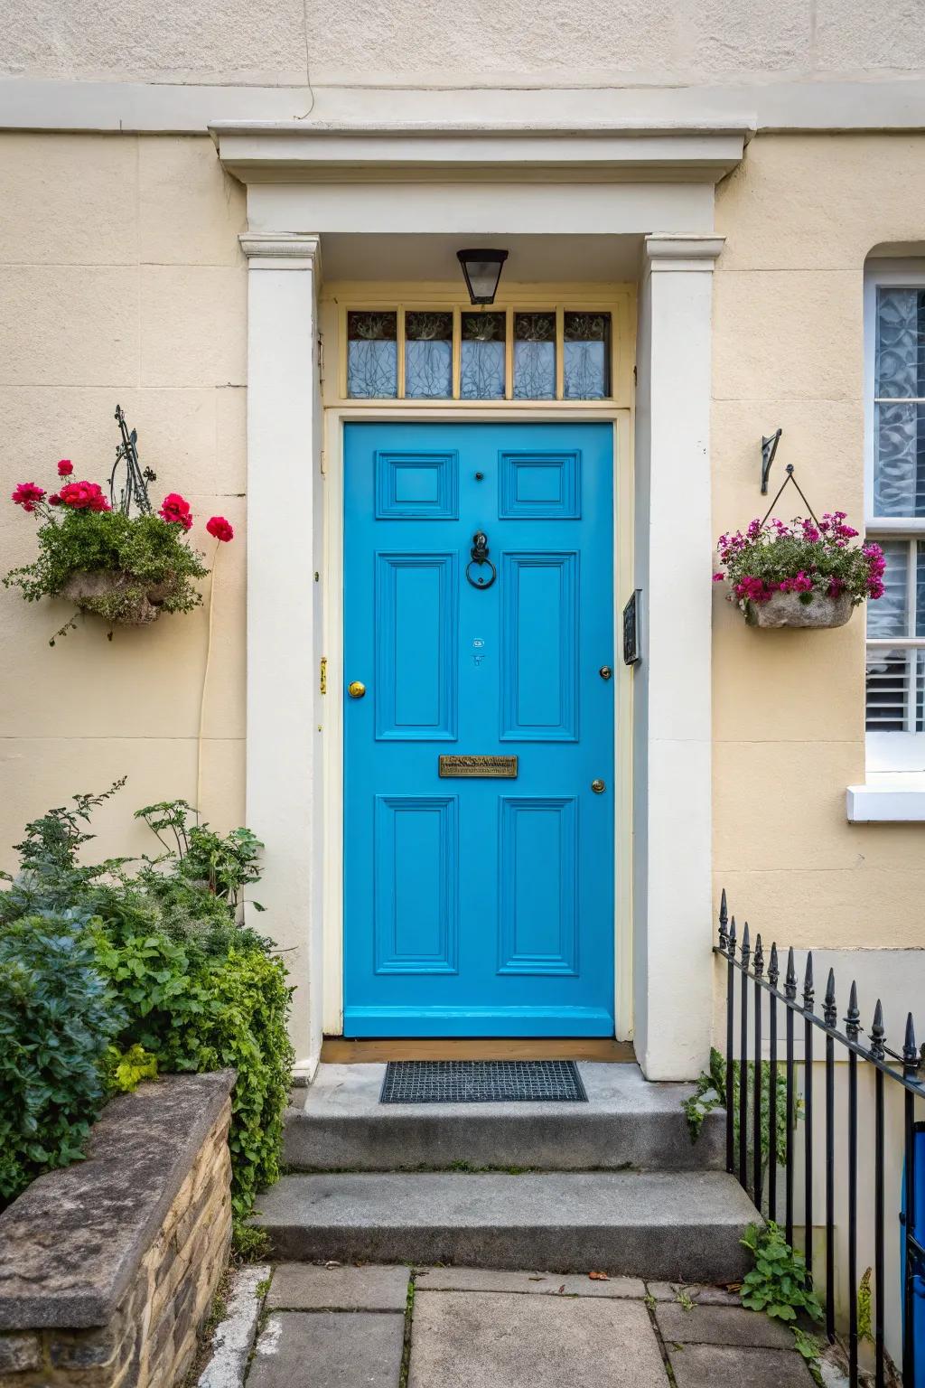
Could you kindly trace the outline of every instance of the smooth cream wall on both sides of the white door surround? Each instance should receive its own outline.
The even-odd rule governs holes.
[[[76,40],[75,40],[76,42]],[[861,279],[868,251],[921,236],[925,136],[760,135],[717,190],[714,533],[763,514],[761,433],[817,509],[863,515]],[[193,502],[193,539],[223,512],[209,673],[205,815],[244,815],[244,190],[202,137],[0,136],[0,498],[51,482],[57,458],[103,480],[116,401],[139,430],[154,496]],[[786,514],[792,514],[790,509]],[[3,566],[35,552],[31,518],[0,504]],[[208,593],[208,586],[205,587]],[[0,591],[0,865],[25,819],[128,773],[100,815],[100,852],[148,848],[130,811],[196,795],[207,613],[147,630]],[[919,947],[922,829],[845,819],[864,779],[864,620],[753,632],[716,594],[717,892],[795,944]]]

